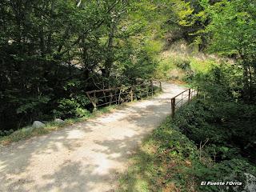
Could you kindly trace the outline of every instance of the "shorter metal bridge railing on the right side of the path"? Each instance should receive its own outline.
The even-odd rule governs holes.
[[[188,89],[182,91],[182,93],[176,95],[174,98],[171,98],[171,116],[174,118],[175,110],[177,110],[180,106],[185,104],[186,102],[190,103],[192,98],[198,96],[198,88],[197,89]]]

